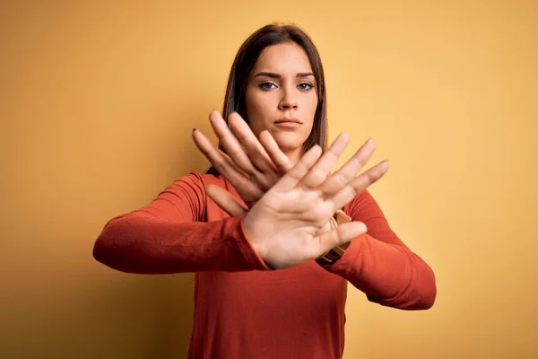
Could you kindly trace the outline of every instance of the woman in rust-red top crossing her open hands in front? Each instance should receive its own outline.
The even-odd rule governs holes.
[[[370,140],[331,174],[348,136],[325,150],[325,109],[308,36],[256,31],[231,67],[223,116],[210,115],[219,149],[193,131],[212,168],[113,218],[96,241],[94,257],[117,270],[196,272],[189,358],[341,358],[348,281],[381,305],[433,305],[433,272],[366,190],[386,162],[356,176]]]

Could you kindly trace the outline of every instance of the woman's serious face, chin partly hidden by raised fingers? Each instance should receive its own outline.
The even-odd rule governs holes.
[[[284,153],[300,153],[317,108],[317,87],[308,55],[296,43],[267,47],[246,91],[247,119],[256,136],[267,129]]]

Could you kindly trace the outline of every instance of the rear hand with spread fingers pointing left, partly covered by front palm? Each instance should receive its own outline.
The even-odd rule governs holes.
[[[205,188],[205,192],[229,215],[245,215],[257,200],[293,167],[293,163],[282,153],[269,131],[262,131],[258,141],[238,113],[234,112],[228,118],[235,136],[218,111],[213,110],[209,119],[215,135],[228,154],[215,148],[197,129],[193,131],[195,144],[213,167],[236,188],[248,208],[241,206],[224,188],[212,185]],[[271,153],[271,156],[268,153]]]

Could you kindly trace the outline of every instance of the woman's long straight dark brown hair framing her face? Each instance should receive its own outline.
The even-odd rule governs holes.
[[[285,42],[294,42],[305,50],[317,83],[317,109],[314,115],[314,125],[312,132],[310,132],[310,135],[303,144],[302,153],[305,153],[316,144],[319,144],[325,151],[327,147],[325,74],[321,64],[321,57],[319,57],[314,42],[308,37],[305,31],[296,25],[265,25],[243,42],[230,69],[228,85],[226,86],[226,96],[224,97],[224,105],[222,106],[222,118],[228,122],[230,113],[238,112],[248,123],[245,101],[248,78],[256,65],[258,57],[260,57],[260,54],[266,47]],[[219,148],[223,151],[221,144],[219,144]],[[206,173],[213,175],[219,174],[213,166]]]

